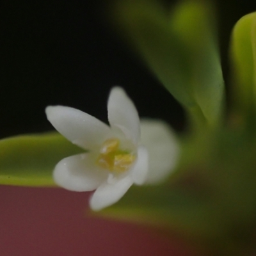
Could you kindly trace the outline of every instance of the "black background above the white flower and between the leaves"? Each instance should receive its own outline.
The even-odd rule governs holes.
[[[172,6],[173,1],[164,1]],[[1,7],[0,138],[52,129],[49,104],[79,108],[107,122],[109,88],[120,85],[141,116],[184,127],[179,104],[108,26],[108,1],[4,1]],[[228,40],[255,1],[216,1],[221,60]]]

